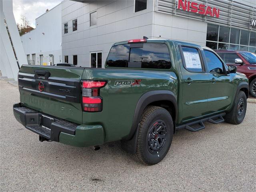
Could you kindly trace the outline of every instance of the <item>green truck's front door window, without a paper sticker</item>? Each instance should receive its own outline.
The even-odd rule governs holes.
[[[213,52],[204,50],[204,55],[210,73],[224,74],[222,62]]]

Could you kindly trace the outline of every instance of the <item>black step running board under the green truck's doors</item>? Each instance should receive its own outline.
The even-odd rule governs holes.
[[[192,132],[199,131],[199,130],[202,130],[205,128],[204,122],[206,122],[206,121],[213,123],[213,124],[218,124],[218,123],[224,122],[223,116],[225,116],[225,115],[226,115],[226,113],[221,113],[221,114],[206,117],[206,118],[203,118],[200,120],[188,122],[186,124],[176,126],[176,130],[186,129],[186,130],[189,130]]]

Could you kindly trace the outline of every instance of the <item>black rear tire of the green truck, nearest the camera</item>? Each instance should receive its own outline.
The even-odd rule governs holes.
[[[160,126],[161,129],[159,130],[159,134],[156,132],[156,134],[158,134],[158,137],[156,138],[160,139],[160,142],[158,142],[158,139],[156,139],[156,143],[159,144],[162,142],[162,140],[164,140],[165,143],[162,142],[162,147],[158,148],[159,151],[151,151],[149,142],[152,141],[153,138],[151,140],[149,139],[149,136],[152,136],[149,131],[152,129],[157,130],[160,128]],[[164,108],[158,106],[148,106],[142,114],[140,126],[138,129],[138,143],[136,146],[136,154],[134,154],[134,158],[146,165],[157,164],[166,156],[172,143],[172,116]],[[164,132],[166,134],[163,134],[161,130],[166,130],[166,132]],[[165,137],[165,139],[160,138],[160,136]],[[153,140],[153,142],[155,141]]]

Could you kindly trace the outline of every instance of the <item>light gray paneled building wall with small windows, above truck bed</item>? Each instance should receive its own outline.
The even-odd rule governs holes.
[[[62,2],[62,59],[78,55],[78,66],[90,67],[90,52],[102,52],[102,66],[114,42],[152,38],[154,0],[148,0],[147,9],[134,12],[134,0],[97,0],[82,3],[66,0]],[[90,26],[90,13],[97,11],[97,25]],[[72,20],[78,26],[72,31]],[[68,22],[68,33],[64,34],[64,23]]]

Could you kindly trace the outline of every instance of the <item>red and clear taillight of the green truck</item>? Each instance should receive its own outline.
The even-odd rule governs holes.
[[[100,88],[104,87],[107,81],[82,80],[82,108],[86,112],[102,111],[102,97]]]

